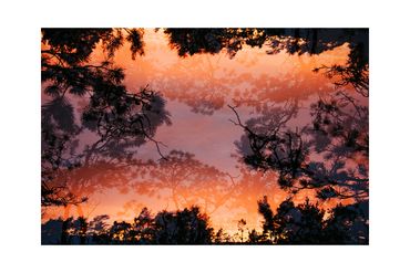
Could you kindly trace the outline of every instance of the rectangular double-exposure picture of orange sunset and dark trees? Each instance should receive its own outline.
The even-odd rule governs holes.
[[[42,244],[368,244],[368,29],[42,29]]]

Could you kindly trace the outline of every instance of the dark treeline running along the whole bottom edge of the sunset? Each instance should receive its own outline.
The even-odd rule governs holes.
[[[341,206],[328,211],[308,199],[295,206],[288,199],[273,212],[266,197],[258,201],[264,217],[262,231],[246,228],[240,219],[237,232],[227,234],[211,227],[197,207],[155,217],[144,208],[133,222],[106,223],[107,216],[51,219],[41,227],[42,244],[368,244],[368,203]]]

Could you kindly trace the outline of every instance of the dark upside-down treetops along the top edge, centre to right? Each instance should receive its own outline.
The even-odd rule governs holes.
[[[289,54],[320,54],[344,43],[363,43],[366,29],[165,29],[170,44],[180,56],[196,53],[219,53],[223,49],[234,56],[244,45],[270,48],[267,53],[285,51]]]

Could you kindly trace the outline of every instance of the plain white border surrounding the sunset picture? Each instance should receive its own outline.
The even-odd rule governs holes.
[[[404,272],[409,243],[406,1],[3,1],[1,272]],[[41,246],[42,27],[370,28],[370,246]]]

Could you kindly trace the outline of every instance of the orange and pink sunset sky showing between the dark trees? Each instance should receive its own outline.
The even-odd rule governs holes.
[[[349,54],[348,45],[319,55],[289,55],[285,52],[266,54],[266,46],[257,49],[245,45],[234,57],[229,57],[226,52],[180,57],[176,50],[170,48],[163,31],[155,32],[152,29],[145,30],[144,43],[145,55],[134,61],[125,45],[114,61],[125,69],[125,85],[129,90],[139,91],[148,85],[164,96],[172,125],[162,125],[156,132],[155,139],[166,145],[161,146],[162,153],[166,155],[171,150],[181,150],[193,154],[202,164],[227,174],[221,181],[214,181],[225,187],[224,190],[235,183],[242,185],[242,190],[248,193],[246,198],[240,193],[233,196],[215,211],[212,208],[205,210],[215,228],[233,232],[240,218],[248,221],[247,228],[258,228],[260,218],[257,214],[257,200],[266,195],[273,208],[276,208],[288,193],[278,188],[275,174],[249,170],[239,161],[235,143],[240,140],[244,132],[229,120],[235,119],[235,115],[227,105],[238,106],[237,112],[245,122],[258,116],[264,107],[266,111],[288,101],[297,102],[299,113],[291,123],[303,126],[311,118],[310,104],[320,95],[335,90],[334,80],[314,73],[312,70],[321,65],[345,64]],[[104,52],[96,50],[91,62],[98,63],[103,55]],[[47,101],[48,97],[42,95],[42,102]],[[76,106],[81,107],[85,103],[78,99]],[[92,136],[84,133],[81,139],[85,144]],[[155,145],[148,141],[139,148],[136,158],[157,161],[160,155]],[[75,176],[69,178],[68,185],[74,192],[89,196],[89,201],[79,208],[49,209],[43,221],[59,216],[83,214],[93,218],[106,213],[111,220],[131,220],[144,206],[153,213],[176,209],[167,188],[157,189],[151,196],[139,192],[135,188],[139,177],[130,170],[121,175],[119,171],[117,176],[111,174],[104,178],[106,181],[101,178],[107,171],[106,167],[82,171],[83,177],[89,177],[88,186],[79,185],[82,182]],[[146,178],[143,180],[150,181]],[[199,197],[202,195],[204,200],[207,196],[218,195],[217,185],[209,186],[206,181],[194,183],[198,185],[194,187],[194,191],[197,191],[195,193]],[[295,200],[301,202],[306,196],[312,198],[314,193],[304,191]],[[197,200],[197,203],[201,206],[204,200]],[[192,202],[187,203],[194,204]],[[325,202],[322,206],[328,208],[335,203]]]

